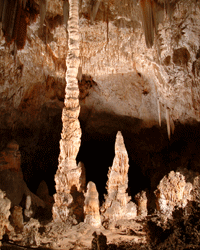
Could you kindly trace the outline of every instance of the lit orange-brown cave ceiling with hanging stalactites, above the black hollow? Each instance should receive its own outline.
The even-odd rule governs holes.
[[[2,14],[2,128],[30,126],[44,107],[62,108],[66,8],[65,1],[31,0],[20,17],[9,8],[10,19]],[[144,127],[168,123],[168,133],[176,122],[199,121],[199,11],[198,1],[80,1],[79,78],[92,83],[82,86],[80,118],[108,112]]]

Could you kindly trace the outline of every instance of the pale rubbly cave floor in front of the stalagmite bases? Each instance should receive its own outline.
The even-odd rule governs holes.
[[[22,235],[18,234],[18,240],[16,237],[13,241],[3,242],[1,249],[89,250],[93,249],[92,240],[94,239],[94,232],[97,232],[98,235],[102,233],[106,236],[107,249],[140,249],[140,246],[143,246],[142,249],[145,249],[146,234],[142,231],[141,224],[136,221],[125,220],[113,229],[105,229],[103,226],[97,229],[83,222],[67,228],[64,224],[51,222],[45,226],[45,232],[37,237],[38,245],[23,246]],[[103,250],[104,248],[100,249]]]

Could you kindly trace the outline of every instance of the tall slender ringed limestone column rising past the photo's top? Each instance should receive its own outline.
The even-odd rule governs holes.
[[[84,196],[82,193],[82,164],[77,166],[76,156],[80,147],[81,129],[78,120],[79,88],[77,74],[79,68],[79,11],[78,0],[69,1],[68,56],[66,60],[65,107],[62,112],[63,129],[60,140],[58,170],[55,175],[56,194],[53,206],[54,221],[66,221],[75,215],[83,220]]]

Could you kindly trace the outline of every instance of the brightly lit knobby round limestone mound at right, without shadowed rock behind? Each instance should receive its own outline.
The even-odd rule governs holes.
[[[192,188],[192,183],[187,182],[183,174],[171,171],[163,177],[155,191],[157,210],[165,218],[170,217],[175,207],[184,208],[191,200]]]

